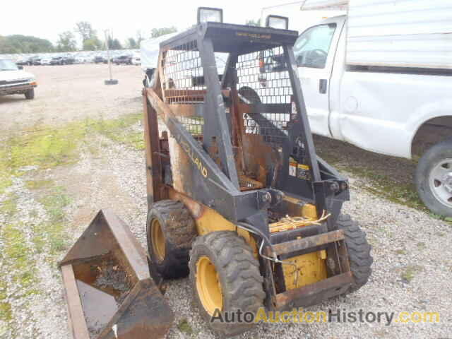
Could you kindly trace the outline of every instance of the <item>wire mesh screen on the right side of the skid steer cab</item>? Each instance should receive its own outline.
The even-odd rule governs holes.
[[[241,55],[236,67],[239,97],[251,108],[244,115],[245,133],[282,144],[292,113],[292,85],[283,47]]]

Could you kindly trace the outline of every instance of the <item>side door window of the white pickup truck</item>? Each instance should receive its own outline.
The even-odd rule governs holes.
[[[297,66],[325,68],[335,29],[335,23],[328,23],[311,27],[302,32],[294,44]]]

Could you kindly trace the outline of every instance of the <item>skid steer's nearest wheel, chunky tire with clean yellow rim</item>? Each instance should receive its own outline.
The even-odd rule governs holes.
[[[253,323],[210,321],[237,309],[256,314],[263,307],[263,278],[251,247],[235,232],[220,231],[198,237],[190,251],[190,283],[194,303],[206,323],[223,336],[239,335]],[[215,311],[218,310],[218,311]],[[236,316],[237,320],[237,316]]]

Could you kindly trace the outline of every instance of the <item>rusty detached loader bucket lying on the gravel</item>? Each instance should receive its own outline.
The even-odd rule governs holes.
[[[60,263],[73,339],[165,338],[174,314],[129,227],[100,210]]]

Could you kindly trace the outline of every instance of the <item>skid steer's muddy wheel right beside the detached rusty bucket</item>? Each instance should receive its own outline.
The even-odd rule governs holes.
[[[153,203],[146,231],[150,259],[162,277],[189,275],[189,251],[197,233],[194,219],[184,204],[174,200]]]

